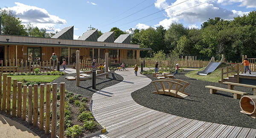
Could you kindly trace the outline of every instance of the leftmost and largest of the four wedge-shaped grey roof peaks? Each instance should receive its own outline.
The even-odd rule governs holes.
[[[58,39],[73,39],[74,38],[74,26],[66,27],[55,34],[52,38]]]

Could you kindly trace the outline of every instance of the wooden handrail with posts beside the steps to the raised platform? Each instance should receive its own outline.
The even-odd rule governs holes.
[[[243,71],[244,64],[243,63],[238,63],[235,65],[230,65],[224,68],[221,68],[221,83],[224,82],[224,75],[226,74],[227,77],[229,75],[234,75],[234,72],[236,72],[237,78],[236,78],[236,83],[239,83],[239,72]]]

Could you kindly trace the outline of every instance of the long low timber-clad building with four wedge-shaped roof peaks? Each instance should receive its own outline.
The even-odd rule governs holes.
[[[21,60],[43,62],[55,53],[59,61],[66,59],[67,65],[73,65],[79,50],[80,59],[104,59],[108,52],[113,62],[119,63],[124,59],[139,60],[141,50],[151,50],[131,44],[130,34],[114,39],[113,32],[106,32],[98,38],[97,30],[89,30],[74,40],[73,30],[74,26],[66,27],[52,38],[0,35],[0,61],[3,60],[4,65],[10,59],[15,59],[15,65]]]

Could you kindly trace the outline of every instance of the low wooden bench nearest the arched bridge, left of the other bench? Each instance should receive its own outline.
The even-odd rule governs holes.
[[[221,87],[215,87],[215,86],[205,86],[205,87],[210,89],[211,94],[216,93],[217,90],[233,93],[233,98],[234,99],[241,99],[241,96],[248,95],[248,93],[240,92],[240,91],[237,91],[237,90],[225,89],[225,88],[221,88]]]

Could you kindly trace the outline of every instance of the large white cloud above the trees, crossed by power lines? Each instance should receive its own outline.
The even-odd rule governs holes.
[[[157,0],[157,2],[159,1],[160,0]],[[184,0],[176,0],[174,3],[171,4],[167,3],[166,0],[161,0],[159,3],[157,2],[155,4],[155,7],[159,8],[160,10],[172,6],[171,8],[165,10],[167,18],[157,24],[162,25],[166,29],[172,23],[179,21],[184,21],[184,23],[186,24],[195,24],[198,22],[205,22],[209,18],[214,17],[221,17],[225,20],[231,20],[233,19],[233,17],[248,13],[236,10],[230,11],[225,8],[221,8],[217,3],[217,0],[189,0],[186,2],[184,2]]]

